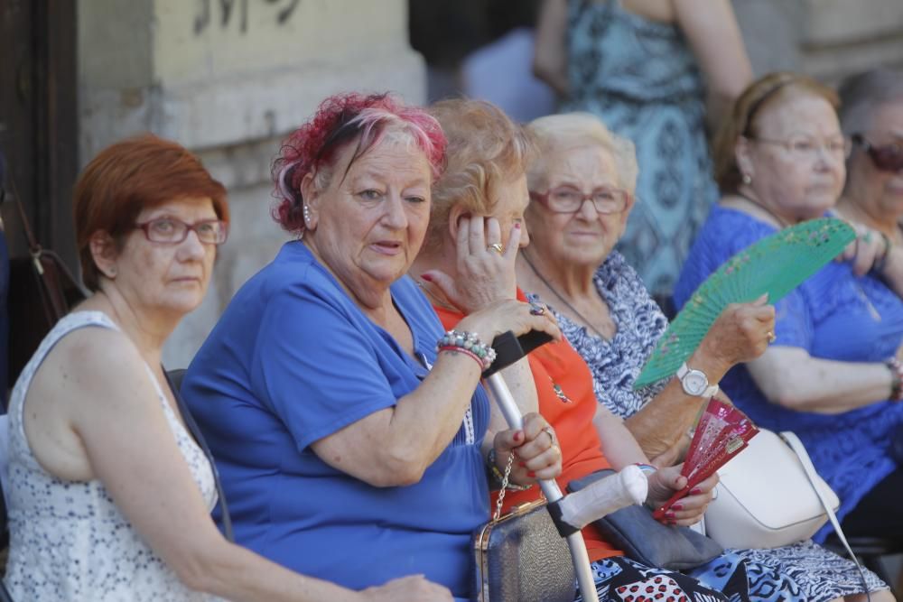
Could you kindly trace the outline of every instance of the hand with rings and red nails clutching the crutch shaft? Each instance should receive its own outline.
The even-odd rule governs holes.
[[[517,485],[533,485],[537,480],[562,474],[562,450],[558,438],[545,418],[535,412],[524,416],[523,429],[496,433],[493,446],[496,466],[502,474],[505,474],[508,456],[514,454],[508,478]]]

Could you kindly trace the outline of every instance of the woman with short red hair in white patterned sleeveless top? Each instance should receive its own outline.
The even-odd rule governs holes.
[[[9,407],[10,555],[28,602],[421,600],[404,579],[357,593],[227,542],[208,458],[160,365],[226,241],[226,190],[182,146],[144,135],[88,164],[75,190],[94,292],[44,338]]]

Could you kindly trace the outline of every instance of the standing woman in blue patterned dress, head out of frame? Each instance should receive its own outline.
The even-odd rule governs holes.
[[[705,125],[752,79],[729,0],[546,0],[535,71],[636,144],[637,207],[619,251],[664,300],[718,199]]]

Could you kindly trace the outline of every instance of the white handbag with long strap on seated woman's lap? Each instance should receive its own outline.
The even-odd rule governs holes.
[[[828,520],[826,508],[840,506],[803,443],[789,431],[778,437],[762,429],[718,475],[717,497],[705,511],[705,533],[724,548],[802,542]]]

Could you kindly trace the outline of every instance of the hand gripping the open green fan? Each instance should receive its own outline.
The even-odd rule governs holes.
[[[731,303],[712,324],[697,353],[710,363],[718,362],[727,371],[741,362],[749,362],[765,353],[769,336],[775,330],[775,307],[764,294],[751,303]],[[694,359],[694,366],[700,365]]]

